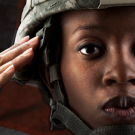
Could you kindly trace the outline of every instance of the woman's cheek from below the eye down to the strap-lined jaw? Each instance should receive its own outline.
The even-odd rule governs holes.
[[[61,73],[70,109],[87,123],[90,122],[90,125],[96,119],[94,116],[103,98],[100,91],[101,67],[100,62],[95,64],[74,57],[61,60]]]

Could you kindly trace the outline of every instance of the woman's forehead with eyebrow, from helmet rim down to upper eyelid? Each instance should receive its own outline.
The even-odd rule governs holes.
[[[84,35],[134,37],[135,7],[76,10],[62,13],[62,35],[68,40]],[[65,38],[64,38],[65,37]],[[68,38],[69,37],[69,38]]]

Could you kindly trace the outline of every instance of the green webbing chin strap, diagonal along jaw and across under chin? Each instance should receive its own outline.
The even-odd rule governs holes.
[[[52,102],[52,101],[51,101]],[[62,124],[75,135],[135,135],[135,125],[106,126],[98,129],[88,128],[73,112],[57,102],[51,105],[54,113],[52,121],[55,126],[63,128]]]

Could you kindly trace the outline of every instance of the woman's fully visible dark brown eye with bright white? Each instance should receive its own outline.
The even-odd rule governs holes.
[[[84,55],[96,55],[104,52],[102,47],[93,43],[87,43],[79,46],[79,51]]]

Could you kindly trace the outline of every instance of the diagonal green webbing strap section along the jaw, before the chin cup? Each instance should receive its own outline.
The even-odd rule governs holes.
[[[71,112],[64,105],[57,102],[56,104],[52,104],[51,108],[54,112],[51,115],[51,120],[53,122],[53,125],[55,126],[57,125],[57,127],[59,127],[59,125],[63,124],[75,135],[88,135],[91,132],[91,130],[73,112]],[[59,121],[59,124],[55,123],[56,120]]]

